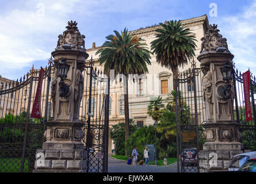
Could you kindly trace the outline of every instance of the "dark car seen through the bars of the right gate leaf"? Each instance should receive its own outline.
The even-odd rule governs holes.
[[[181,154],[184,166],[197,166],[197,148],[186,148]]]

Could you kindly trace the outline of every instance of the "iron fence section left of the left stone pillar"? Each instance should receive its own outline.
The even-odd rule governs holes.
[[[36,149],[43,143],[44,122],[30,118],[39,70],[18,81],[2,80],[0,88],[0,172],[32,172]],[[51,66],[45,67],[41,112],[47,114]]]

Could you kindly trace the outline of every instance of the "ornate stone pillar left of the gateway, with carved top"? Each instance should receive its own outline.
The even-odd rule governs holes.
[[[83,122],[79,120],[79,106],[83,94],[85,60],[89,56],[85,49],[84,35],[77,22],[69,22],[67,30],[59,35],[58,45],[52,52],[54,57],[54,79],[51,86],[53,117],[47,122],[43,148],[36,152],[33,172],[83,172],[86,167],[86,151],[81,142]],[[57,66],[62,59],[70,65],[64,83],[69,86],[65,97],[59,95]]]

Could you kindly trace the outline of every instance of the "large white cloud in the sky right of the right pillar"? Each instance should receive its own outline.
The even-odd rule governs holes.
[[[228,38],[228,47],[241,72],[250,68],[256,74],[256,1],[235,16],[220,21],[220,32]]]

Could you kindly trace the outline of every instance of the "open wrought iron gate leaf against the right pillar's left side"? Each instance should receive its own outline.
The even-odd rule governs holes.
[[[200,68],[192,68],[181,72],[178,78],[177,150],[181,160],[178,169],[182,173],[199,172],[198,152],[204,143],[201,125],[207,120],[202,76]]]

